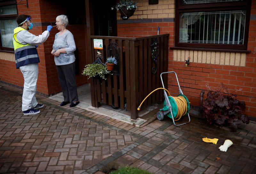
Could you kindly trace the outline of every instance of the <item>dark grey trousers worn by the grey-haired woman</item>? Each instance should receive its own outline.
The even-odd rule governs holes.
[[[78,101],[76,89],[75,62],[67,65],[56,65],[64,101]]]

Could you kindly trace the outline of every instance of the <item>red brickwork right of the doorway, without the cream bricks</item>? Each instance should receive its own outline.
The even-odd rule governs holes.
[[[251,15],[256,15],[256,0],[252,0]],[[169,47],[174,46],[174,22],[161,23],[125,23],[118,24],[118,36],[148,36],[169,33]],[[192,105],[200,106],[200,92],[206,89],[206,83],[211,87],[218,87],[223,82],[228,89],[237,92],[238,99],[245,101],[246,114],[256,117],[256,20],[250,21],[248,50],[246,66],[227,66],[206,63],[191,63],[185,67],[185,62],[173,61],[173,51],[168,54],[168,71],[175,71],[178,75],[181,89]],[[173,96],[178,94],[176,78],[168,77],[168,90]],[[173,86],[174,85],[174,86]],[[204,98],[206,94],[204,94]]]

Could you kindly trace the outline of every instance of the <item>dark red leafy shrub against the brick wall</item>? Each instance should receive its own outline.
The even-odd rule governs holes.
[[[206,85],[208,89],[207,98],[204,99],[204,118],[208,123],[216,123],[236,131],[240,122],[248,124],[249,118],[245,115],[245,103],[236,99],[236,94],[231,94],[228,89],[220,84],[217,91]]]

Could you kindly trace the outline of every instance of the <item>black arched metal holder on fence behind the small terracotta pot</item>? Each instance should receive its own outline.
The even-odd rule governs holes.
[[[115,57],[117,64],[114,67],[114,70],[112,71],[115,75],[120,75],[120,58],[119,58],[119,46],[115,42],[110,42],[108,44],[108,57]]]

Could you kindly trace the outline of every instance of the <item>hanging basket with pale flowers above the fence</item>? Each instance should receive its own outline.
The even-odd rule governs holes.
[[[119,10],[121,18],[127,20],[138,8],[137,4],[138,2],[133,0],[120,0],[119,3],[111,9],[114,10],[114,8],[116,8],[116,10]]]

